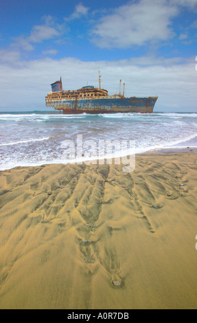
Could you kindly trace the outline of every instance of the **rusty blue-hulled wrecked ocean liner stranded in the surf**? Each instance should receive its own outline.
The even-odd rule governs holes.
[[[125,98],[124,94],[109,96],[105,89],[93,86],[74,91],[63,91],[62,81],[51,85],[52,91],[45,97],[46,106],[63,111],[63,114],[80,113],[152,113],[158,97]]]

